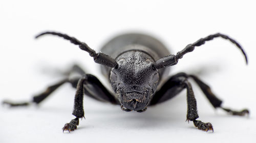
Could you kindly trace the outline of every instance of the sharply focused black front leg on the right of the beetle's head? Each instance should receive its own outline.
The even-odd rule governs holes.
[[[164,102],[179,94],[183,89],[187,90],[187,117],[186,121],[193,121],[194,125],[204,131],[214,130],[210,123],[204,123],[196,120],[199,118],[197,113],[197,102],[192,90],[191,84],[187,81],[187,77],[183,74],[176,74],[170,77],[154,95],[151,105]]]

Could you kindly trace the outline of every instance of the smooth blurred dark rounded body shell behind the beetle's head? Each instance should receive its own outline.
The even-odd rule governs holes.
[[[168,49],[156,38],[136,33],[119,35],[104,44],[100,51],[116,60],[125,52],[133,50],[148,54],[154,61],[170,54]],[[101,65],[101,72],[108,79],[110,77],[110,71],[110,67]],[[163,75],[168,74],[168,71],[169,68],[159,69],[160,79]]]

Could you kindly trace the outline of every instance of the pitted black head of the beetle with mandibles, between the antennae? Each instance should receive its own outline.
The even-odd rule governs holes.
[[[110,81],[119,102],[129,111],[145,109],[159,82],[158,70],[153,68],[154,60],[143,52],[130,51],[117,63],[119,66],[112,69]]]

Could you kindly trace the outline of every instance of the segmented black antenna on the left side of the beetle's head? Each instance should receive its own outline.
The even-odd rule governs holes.
[[[98,63],[100,65],[104,65],[104,66],[108,66],[108,67],[111,67],[111,68],[117,68],[118,67],[117,62],[113,58],[111,58],[111,56],[106,55],[106,54],[101,53],[101,52],[96,53],[95,50],[91,49],[86,43],[80,42],[76,38],[70,37],[66,34],[61,34],[61,33],[57,33],[57,32],[44,32],[44,33],[41,33],[41,34],[37,35],[35,38],[38,38],[40,36],[47,35],[47,34],[62,37],[66,40],[69,40],[71,43],[73,43],[75,45],[79,45],[79,48],[81,50],[87,51],[90,54],[90,56],[93,57],[95,63]]]

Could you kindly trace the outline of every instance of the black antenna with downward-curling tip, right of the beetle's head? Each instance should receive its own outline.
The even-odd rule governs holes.
[[[209,35],[205,38],[201,38],[193,44],[188,44],[183,50],[179,51],[176,55],[170,54],[170,55],[164,56],[163,58],[156,61],[156,63],[154,64],[154,68],[161,69],[161,68],[165,68],[168,66],[176,65],[178,63],[179,59],[181,59],[184,54],[193,51],[195,49],[195,47],[199,47],[199,46],[203,45],[206,41],[210,41],[217,37],[227,39],[230,42],[232,42],[233,44],[235,44],[242,51],[245,61],[246,61],[246,64],[248,64],[247,55],[246,55],[244,49],[242,48],[242,46],[237,41],[233,40],[232,38],[229,38],[227,35],[217,33],[217,34]]]

